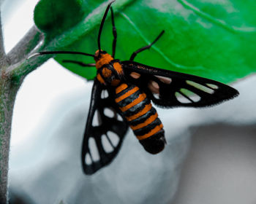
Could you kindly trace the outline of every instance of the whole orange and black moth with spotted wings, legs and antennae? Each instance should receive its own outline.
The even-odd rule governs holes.
[[[96,62],[94,64],[64,60],[67,63],[76,63],[80,66],[96,66],[97,68],[83,138],[82,163],[86,174],[95,173],[116,157],[128,126],[132,128],[135,136],[147,152],[157,154],[165,148],[165,131],[151,101],[155,105],[164,108],[178,106],[199,108],[222,103],[238,95],[238,91],[233,87],[211,79],[167,71],[135,62],[135,56],[139,52],[149,49],[164,34],[164,31],[157,36],[154,42],[133,52],[129,60],[120,61],[115,59],[117,34],[113,9],[111,8],[112,3],[113,1],[108,4],[102,17],[98,35],[98,50],[94,55],[69,51],[38,52],[34,54],[68,53],[94,57]],[[109,9],[114,36],[112,55],[102,51],[100,46],[100,35]],[[104,93],[108,95],[104,95]],[[106,109],[113,111],[112,117],[106,114]],[[93,123],[94,118],[99,120],[97,125]],[[118,136],[117,143],[111,139],[111,133]],[[106,151],[103,138],[108,141],[112,151]],[[96,149],[91,149],[90,140],[95,141]],[[99,153],[98,160],[94,160],[94,157],[92,157],[95,151]]]

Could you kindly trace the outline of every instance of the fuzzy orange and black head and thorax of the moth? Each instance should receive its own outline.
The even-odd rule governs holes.
[[[103,51],[102,51],[103,52]],[[119,60],[114,60],[111,55],[106,52],[95,53],[95,61],[97,68],[97,79],[102,85],[117,86],[123,78],[124,71]]]

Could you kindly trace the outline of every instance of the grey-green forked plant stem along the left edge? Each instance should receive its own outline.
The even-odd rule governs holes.
[[[12,69],[19,67],[20,61],[24,61],[29,52],[41,41],[42,34],[33,26],[6,55],[0,18],[0,203],[8,203],[8,163],[15,97],[26,74],[36,67],[33,66],[29,71],[20,71],[18,76],[15,76]]]

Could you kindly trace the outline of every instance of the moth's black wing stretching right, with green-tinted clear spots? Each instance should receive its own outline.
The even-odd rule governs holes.
[[[127,81],[141,87],[158,106],[213,106],[239,94],[233,87],[200,76],[154,68],[133,61],[122,61],[121,64]]]

